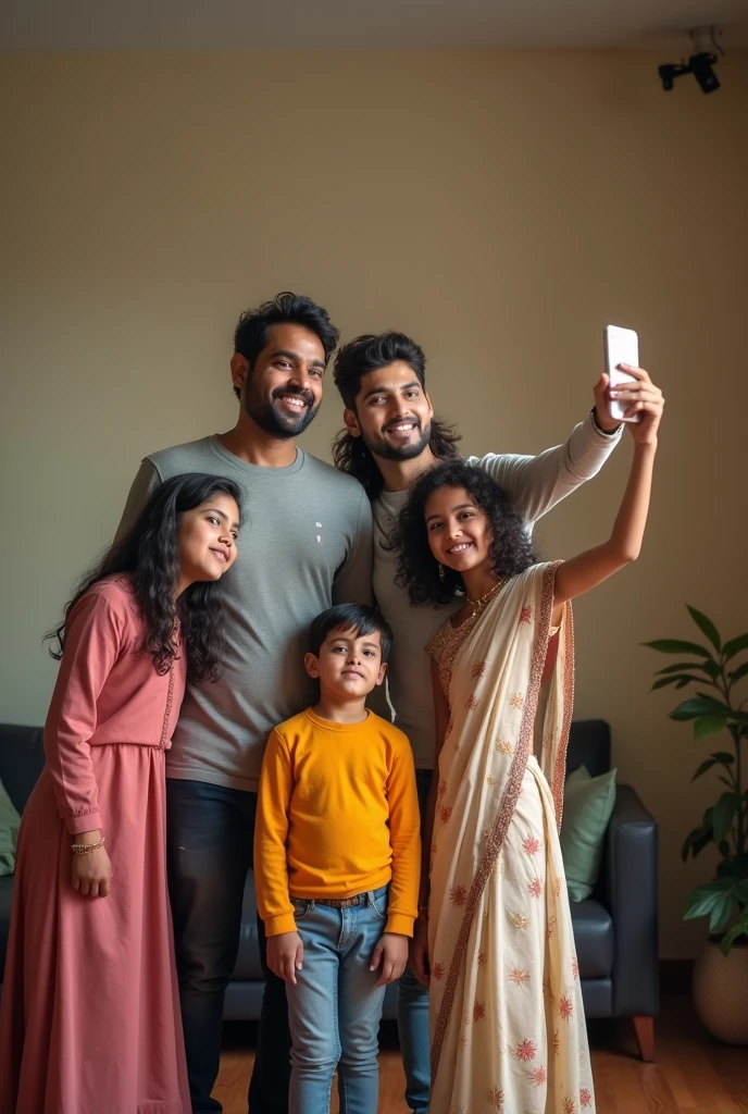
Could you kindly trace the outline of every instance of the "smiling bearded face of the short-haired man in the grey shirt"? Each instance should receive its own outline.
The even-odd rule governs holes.
[[[322,402],[325,350],[303,325],[272,325],[254,368],[238,352],[232,378],[247,414],[265,433],[288,440],[303,433]]]

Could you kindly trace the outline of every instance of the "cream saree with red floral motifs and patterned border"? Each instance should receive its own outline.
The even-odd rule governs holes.
[[[570,607],[543,681],[555,568],[528,569],[472,625],[447,620],[429,647],[451,710],[432,846],[431,1114],[594,1110],[558,839],[573,698]]]

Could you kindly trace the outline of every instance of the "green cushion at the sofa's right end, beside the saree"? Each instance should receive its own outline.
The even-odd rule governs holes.
[[[561,854],[570,901],[589,898],[600,877],[602,844],[616,804],[616,770],[590,778],[579,766],[567,778]]]

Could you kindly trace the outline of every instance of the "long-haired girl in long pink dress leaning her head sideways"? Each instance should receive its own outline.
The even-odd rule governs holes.
[[[165,750],[220,653],[239,491],[164,483],[51,633],[47,765],[23,812],[0,1114],[189,1114],[165,857]]]

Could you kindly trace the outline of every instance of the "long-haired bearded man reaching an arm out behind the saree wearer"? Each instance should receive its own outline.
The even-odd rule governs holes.
[[[662,395],[647,372],[623,393],[633,410],[661,407]],[[335,444],[335,463],[355,476],[372,500],[374,515],[374,596],[394,634],[387,692],[395,720],[413,746],[419,799],[425,813],[431,788],[435,725],[426,643],[461,606],[410,605],[394,583],[397,555],[387,546],[393,519],[411,485],[440,459],[454,456],[456,434],[434,418],[425,392],[425,355],[403,333],[360,336],[335,359],[335,383],[345,404],[345,429]],[[608,382],[594,388],[592,413],[568,440],[537,457],[488,453],[469,457],[518,500],[528,525],[544,515],[600,470],[619,441],[621,426],[610,417]],[[420,910],[420,916],[425,910]],[[430,1085],[427,993],[406,973],[400,983],[400,1043],[406,1076],[405,1101],[414,1114],[427,1114]]]

